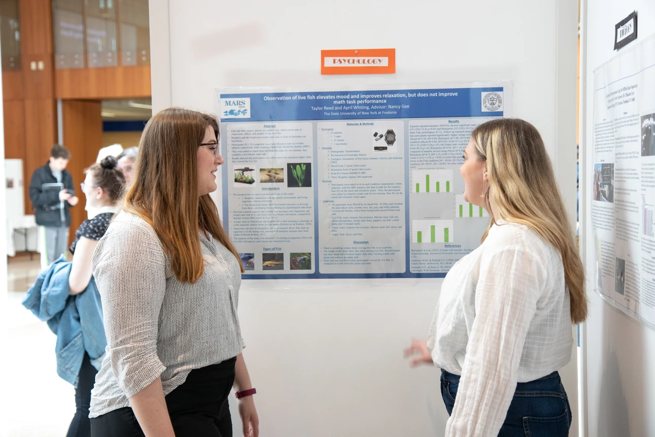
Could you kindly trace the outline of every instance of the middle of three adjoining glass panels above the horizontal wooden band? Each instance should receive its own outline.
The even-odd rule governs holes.
[[[116,1],[86,0],[86,54],[89,67],[117,66]]]

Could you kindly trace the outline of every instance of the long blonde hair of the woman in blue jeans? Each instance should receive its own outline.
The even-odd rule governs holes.
[[[555,181],[546,146],[538,130],[521,119],[497,119],[475,128],[471,138],[478,159],[487,161],[489,186],[485,206],[491,222],[521,223],[561,254],[571,296],[571,321],[587,318],[584,269],[573,229]],[[493,205],[493,209],[491,208]]]

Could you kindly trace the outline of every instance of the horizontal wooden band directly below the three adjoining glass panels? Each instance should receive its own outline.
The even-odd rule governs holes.
[[[150,66],[56,69],[60,99],[149,98]]]

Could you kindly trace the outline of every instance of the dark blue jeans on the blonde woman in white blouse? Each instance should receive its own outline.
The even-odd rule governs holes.
[[[459,376],[441,370],[441,397],[453,413]],[[518,383],[498,437],[565,437],[571,427],[571,406],[559,373]]]

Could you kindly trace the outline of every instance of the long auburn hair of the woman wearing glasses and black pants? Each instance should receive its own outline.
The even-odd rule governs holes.
[[[123,210],[152,225],[175,276],[191,284],[204,271],[198,227],[232,252],[244,271],[214,200],[198,196],[196,153],[208,126],[218,139],[218,124],[211,115],[170,107],[153,116],[141,135],[134,182],[123,203]]]

